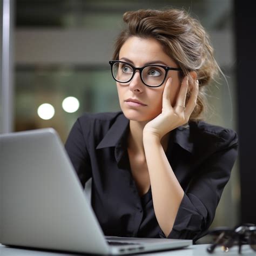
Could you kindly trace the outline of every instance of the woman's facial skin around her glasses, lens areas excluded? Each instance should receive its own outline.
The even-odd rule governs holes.
[[[160,43],[153,38],[130,37],[119,52],[119,60],[136,68],[148,64],[158,64],[178,68],[177,64],[163,51]],[[179,72],[169,70],[165,82],[159,87],[143,84],[137,70],[129,83],[118,83],[117,91],[120,107],[127,119],[147,122],[157,117],[162,109],[162,96],[166,81],[172,77],[171,103],[175,104],[180,87]]]

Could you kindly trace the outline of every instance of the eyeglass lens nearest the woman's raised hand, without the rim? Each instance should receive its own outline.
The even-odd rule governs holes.
[[[146,66],[142,71],[142,79],[146,85],[159,86],[164,82],[165,69],[160,66]]]

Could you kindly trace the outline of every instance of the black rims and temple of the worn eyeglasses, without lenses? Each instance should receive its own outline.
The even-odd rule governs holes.
[[[124,64],[127,64],[127,65],[131,66],[131,68],[132,68],[132,70],[133,70],[133,73],[132,73],[132,76],[131,76],[131,78],[130,78],[129,80],[127,80],[126,82],[120,82],[119,80],[117,80],[117,79],[114,77],[114,74],[113,74],[113,65],[114,65],[115,63],[124,63]],[[114,80],[116,80],[118,83],[123,83],[123,84],[129,83],[129,82],[132,80],[132,78],[134,77],[136,70],[139,70],[140,80],[142,80],[143,84],[145,84],[145,85],[148,86],[148,87],[159,87],[159,86],[161,86],[161,85],[165,82],[165,79],[166,79],[166,76],[167,76],[167,73],[168,73],[169,70],[182,71],[182,69],[180,69],[180,68],[172,68],[172,67],[170,67],[170,66],[163,66],[163,65],[157,65],[157,64],[156,64],[156,65],[153,65],[153,64],[152,64],[152,65],[145,65],[145,66],[143,66],[142,68],[136,68],[136,67],[134,67],[132,64],[130,64],[130,63],[128,63],[128,62],[123,62],[122,60],[110,60],[109,64],[110,64],[110,66],[111,66],[112,77],[113,77]],[[163,80],[163,82],[162,82],[161,84],[159,84],[159,85],[157,85],[157,86],[152,86],[152,85],[146,84],[146,83],[143,81],[142,72],[143,72],[143,70],[144,70],[145,68],[147,68],[148,66],[159,66],[160,68],[163,68],[163,69],[165,70],[165,77],[164,77],[164,80]]]

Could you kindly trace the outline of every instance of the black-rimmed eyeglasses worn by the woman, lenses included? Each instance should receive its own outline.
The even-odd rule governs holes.
[[[158,87],[162,85],[169,70],[182,71],[179,68],[171,68],[162,65],[146,65],[142,68],[135,68],[133,65],[120,60],[111,60],[109,62],[114,80],[119,83],[129,83],[136,70],[139,70],[140,79],[146,86]]]

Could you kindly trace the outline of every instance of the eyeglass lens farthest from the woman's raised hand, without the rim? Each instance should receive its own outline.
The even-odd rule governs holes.
[[[133,75],[133,68],[126,63],[116,62],[113,64],[112,72],[114,79],[116,79],[118,82],[126,83]]]

